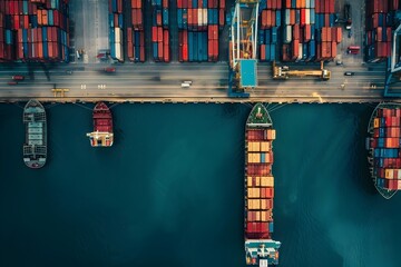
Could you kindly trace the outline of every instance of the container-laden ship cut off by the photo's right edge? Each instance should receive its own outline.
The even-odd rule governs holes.
[[[401,189],[400,121],[401,103],[383,102],[373,110],[368,126],[370,172],[385,199]]]

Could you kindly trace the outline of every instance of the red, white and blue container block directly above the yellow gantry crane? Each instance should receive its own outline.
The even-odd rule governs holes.
[[[283,17],[283,61],[331,60],[342,40],[334,28],[334,1],[285,0]]]

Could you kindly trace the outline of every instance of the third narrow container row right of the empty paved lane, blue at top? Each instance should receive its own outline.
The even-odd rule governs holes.
[[[170,61],[168,0],[153,0],[151,46],[156,62]]]

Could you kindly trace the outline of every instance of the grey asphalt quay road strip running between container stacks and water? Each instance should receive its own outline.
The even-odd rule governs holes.
[[[105,67],[106,65],[65,65],[45,71],[41,67],[33,66],[29,71],[26,65],[1,66],[0,96],[4,100],[52,98],[51,89],[62,88],[69,89],[66,101],[80,98],[213,98],[223,100],[227,97],[228,68],[226,63],[125,63],[115,65],[115,73],[105,73],[102,71]],[[271,101],[382,99],[384,68],[376,67],[375,70],[368,70],[365,66],[342,67],[333,63],[326,68],[332,71],[332,78],[329,81],[313,78],[277,81],[272,79],[272,67],[260,63],[258,87],[251,91],[251,100],[252,98],[265,98]],[[74,71],[68,75],[67,70]],[[355,75],[348,77],[344,76],[344,71],[353,71]],[[17,86],[9,86],[7,82],[13,75],[26,76],[26,80]],[[180,88],[183,80],[192,80],[190,88]],[[375,89],[371,89],[372,82],[376,85]],[[341,88],[341,85],[344,85],[344,88]]]

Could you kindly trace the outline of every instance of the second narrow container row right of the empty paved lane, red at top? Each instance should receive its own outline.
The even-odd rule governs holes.
[[[145,62],[145,31],[143,0],[130,0],[130,22],[127,24],[127,56],[130,61]]]

